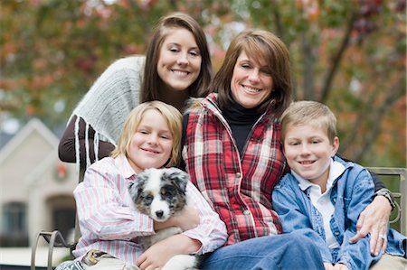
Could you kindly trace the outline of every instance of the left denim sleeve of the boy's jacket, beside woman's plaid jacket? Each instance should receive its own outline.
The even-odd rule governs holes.
[[[304,236],[309,237],[317,245],[323,261],[332,263],[333,258],[325,239],[312,229],[307,211],[310,207],[310,204],[307,205],[307,196],[299,190],[298,184],[290,185],[286,177],[279,182],[272,193],[273,209],[279,215],[283,233],[301,230]],[[298,192],[295,189],[298,189]]]

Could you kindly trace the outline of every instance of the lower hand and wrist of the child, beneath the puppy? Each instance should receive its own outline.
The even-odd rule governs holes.
[[[137,266],[140,267],[141,270],[161,269],[173,256],[194,253],[198,251],[201,246],[200,241],[182,234],[168,237],[149,247],[137,259]]]

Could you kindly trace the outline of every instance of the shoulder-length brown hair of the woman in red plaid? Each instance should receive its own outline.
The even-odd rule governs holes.
[[[214,76],[210,87],[218,92],[219,107],[221,109],[228,107],[233,100],[231,80],[234,66],[242,51],[254,61],[264,60],[268,63],[273,88],[270,97],[260,106],[260,110],[264,111],[272,102],[274,116],[281,116],[292,101],[289,50],[279,37],[258,29],[246,30],[238,34],[226,51],[222,66]]]

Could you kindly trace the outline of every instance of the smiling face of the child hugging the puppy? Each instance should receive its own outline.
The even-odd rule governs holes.
[[[166,118],[156,109],[148,109],[128,145],[128,162],[135,172],[161,168],[171,157],[173,135]]]

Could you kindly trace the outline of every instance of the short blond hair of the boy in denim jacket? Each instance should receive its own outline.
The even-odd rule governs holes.
[[[336,137],[336,116],[326,105],[317,101],[296,101],[281,115],[281,143],[287,133],[288,126],[311,125],[318,126],[327,131],[330,143]]]

